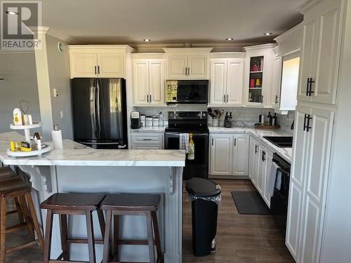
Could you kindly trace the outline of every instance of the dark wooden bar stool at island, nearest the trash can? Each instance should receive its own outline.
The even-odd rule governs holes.
[[[164,262],[159,238],[157,223],[157,209],[161,196],[159,194],[109,194],[100,205],[101,210],[106,210],[105,241],[102,262],[110,262],[110,233],[112,216],[114,220],[114,259],[118,262],[118,245],[148,245],[150,263]],[[147,240],[122,240],[119,239],[119,215],[145,215],[147,225]],[[157,250],[157,261],[154,255],[154,245]]]

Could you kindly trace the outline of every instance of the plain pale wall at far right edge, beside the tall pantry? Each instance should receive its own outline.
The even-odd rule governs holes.
[[[351,1],[347,3],[321,262],[351,260]]]

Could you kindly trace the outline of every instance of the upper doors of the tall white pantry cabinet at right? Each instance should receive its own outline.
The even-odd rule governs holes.
[[[303,10],[303,48],[298,100],[336,103],[340,61],[341,1],[321,1]]]

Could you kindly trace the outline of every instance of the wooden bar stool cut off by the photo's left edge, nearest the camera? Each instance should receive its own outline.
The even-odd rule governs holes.
[[[22,248],[27,248],[31,245],[36,245],[37,243],[39,243],[41,249],[44,249],[44,239],[37,220],[37,214],[34,209],[31,192],[32,188],[27,186],[27,184],[20,178],[12,178],[8,180],[3,179],[0,181],[0,263],[5,262],[6,254]],[[8,198],[15,198],[15,200],[18,200],[20,203],[18,204],[19,206],[17,210],[20,217],[20,224],[15,224],[11,227],[6,227],[6,201]],[[6,234],[23,227],[27,227],[32,241],[13,248],[6,248]],[[34,237],[33,229],[37,234],[37,239]]]

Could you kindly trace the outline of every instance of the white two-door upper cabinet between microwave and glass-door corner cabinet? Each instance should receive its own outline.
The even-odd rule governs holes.
[[[227,56],[227,58],[225,58]],[[230,58],[230,57],[237,58]],[[244,79],[243,53],[211,55],[210,106],[241,105]]]

